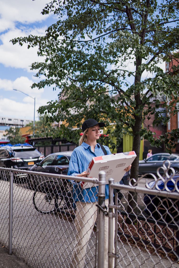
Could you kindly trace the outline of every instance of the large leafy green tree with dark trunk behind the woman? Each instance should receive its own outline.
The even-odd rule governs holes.
[[[65,122],[56,135],[68,140],[79,135],[79,131],[71,135],[71,129],[80,128],[83,118],[90,117],[115,124],[111,135],[117,143],[124,133],[133,135],[137,157],[131,177],[137,180],[141,138],[155,146],[165,142],[171,150],[179,134],[176,129],[157,139],[142,127],[151,114],[157,126],[169,120],[165,111],[177,112],[172,107],[178,102],[178,67],[173,66],[171,75],[157,63],[169,61],[171,51],[178,49],[178,2],[53,0],[42,14],[50,12],[58,21],[45,36],[12,40],[21,46],[27,43],[28,48],[38,46],[38,55],[45,57],[31,65],[36,77],[44,77],[32,88],[53,85],[61,90],[59,100],[48,102],[39,113],[48,114],[51,122]],[[134,66],[127,69],[130,62]],[[162,113],[160,106],[165,109]]]

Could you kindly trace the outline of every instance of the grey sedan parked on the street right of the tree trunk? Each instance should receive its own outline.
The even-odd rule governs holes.
[[[174,168],[176,174],[179,174],[179,154],[159,153],[139,161],[139,175],[145,173],[157,175],[157,169],[163,165],[165,160],[169,160],[170,167]],[[168,163],[166,162],[165,165],[168,166]],[[169,175],[171,174],[172,170],[169,170]]]

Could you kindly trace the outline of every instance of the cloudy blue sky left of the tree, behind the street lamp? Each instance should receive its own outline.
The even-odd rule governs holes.
[[[46,87],[38,90],[31,85],[39,81],[30,65],[41,61],[37,48],[13,45],[13,38],[44,35],[46,28],[57,18],[54,14],[42,15],[42,9],[50,0],[0,0],[0,116],[38,120],[36,110],[48,101],[57,99],[57,91]],[[14,91],[17,89],[25,94]]]

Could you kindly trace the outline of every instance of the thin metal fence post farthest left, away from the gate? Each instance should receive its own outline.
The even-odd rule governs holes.
[[[12,215],[13,215],[13,177],[14,172],[9,172],[9,246],[8,246],[8,255],[12,255]]]

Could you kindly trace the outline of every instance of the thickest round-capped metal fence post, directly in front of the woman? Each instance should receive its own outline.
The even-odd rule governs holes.
[[[99,172],[98,206],[105,209],[105,178],[104,171]],[[97,267],[104,268],[104,218],[102,210],[98,208],[98,258]]]

